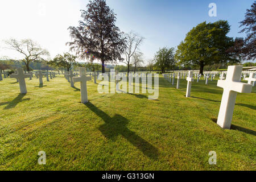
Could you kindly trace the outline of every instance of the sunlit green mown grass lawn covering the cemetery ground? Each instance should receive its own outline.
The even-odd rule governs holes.
[[[256,88],[238,94],[232,130],[217,126],[222,88],[217,80],[187,82],[180,89],[159,78],[158,100],[147,94],[99,94],[88,82],[88,104],[80,84],[63,77],[0,81],[0,169],[2,170],[255,170]],[[175,81],[176,83],[176,81]],[[46,165],[38,164],[45,151]],[[217,165],[208,163],[217,152]]]

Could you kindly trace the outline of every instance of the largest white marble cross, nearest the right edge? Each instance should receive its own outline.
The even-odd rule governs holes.
[[[217,124],[223,129],[230,129],[237,92],[250,93],[252,86],[240,82],[242,66],[229,66],[226,80],[218,80],[217,86],[224,88]]]

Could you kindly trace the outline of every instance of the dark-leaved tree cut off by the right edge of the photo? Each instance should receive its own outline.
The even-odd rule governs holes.
[[[251,5],[250,10],[246,10],[245,19],[240,22],[240,27],[245,26],[240,32],[246,33],[246,38],[237,44],[241,46],[241,52],[244,59],[255,60],[256,58],[256,1]]]

